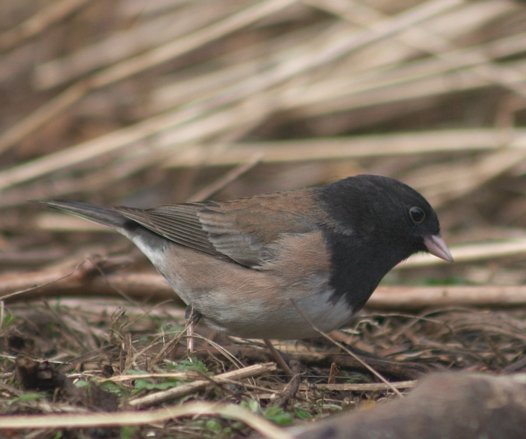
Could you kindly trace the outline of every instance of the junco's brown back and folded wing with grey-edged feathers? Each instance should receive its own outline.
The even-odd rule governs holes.
[[[272,259],[284,235],[312,232],[325,219],[314,189],[223,203],[154,209],[118,207],[127,218],[177,244],[255,267]]]

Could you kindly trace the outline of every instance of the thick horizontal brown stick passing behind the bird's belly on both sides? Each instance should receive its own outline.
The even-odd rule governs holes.
[[[74,275],[72,269],[45,270],[33,273],[0,275],[0,300],[17,301],[51,299],[63,296],[126,297],[141,301],[180,303],[177,294],[156,273],[100,273]],[[478,286],[380,286],[367,307],[415,310],[424,307],[526,306],[526,285]]]

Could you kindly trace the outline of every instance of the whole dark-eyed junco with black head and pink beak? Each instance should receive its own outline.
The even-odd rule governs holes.
[[[131,239],[205,323],[246,338],[331,331],[413,253],[452,261],[422,195],[375,175],[152,209],[46,203]]]

